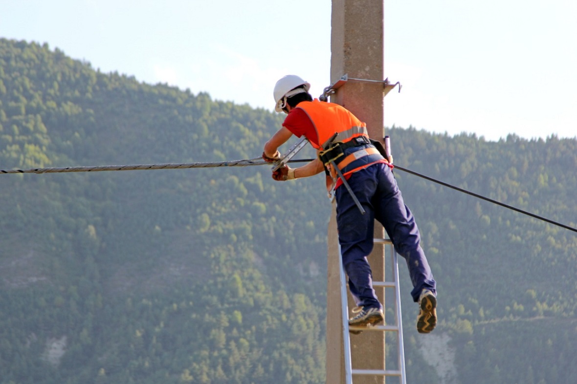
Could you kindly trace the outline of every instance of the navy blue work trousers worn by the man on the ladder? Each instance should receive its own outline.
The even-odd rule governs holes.
[[[349,289],[359,307],[383,308],[373,289],[367,256],[373,250],[374,220],[378,220],[396,252],[409,267],[413,283],[411,296],[418,301],[422,289],[436,294],[436,282],[421,248],[419,229],[413,214],[404,205],[391,168],[377,163],[354,172],[348,180],[351,190],[365,209],[361,214],[346,187],[336,189],[336,221],[344,270]]]

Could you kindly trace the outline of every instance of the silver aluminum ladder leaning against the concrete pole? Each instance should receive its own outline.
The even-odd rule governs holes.
[[[398,377],[401,384],[406,384],[405,364],[404,364],[404,344],[403,344],[403,322],[400,310],[400,287],[399,287],[399,266],[398,255],[390,239],[374,239],[375,244],[385,244],[391,249],[391,264],[393,281],[373,281],[373,287],[384,287],[395,289],[395,325],[377,325],[372,327],[349,327],[349,304],[347,303],[347,281],[343,268],[343,258],[340,261],[340,296],[342,300],[343,318],[343,340],[344,340],[344,374],[346,384],[353,384],[353,375],[372,375],[381,377]],[[339,246],[340,254],[340,246]],[[385,251],[386,257],[387,252]],[[386,311],[384,311],[386,313]],[[386,318],[386,316],[385,316]],[[398,369],[396,370],[361,370],[351,367],[351,342],[349,330],[362,330],[363,332],[396,332],[398,344]]]

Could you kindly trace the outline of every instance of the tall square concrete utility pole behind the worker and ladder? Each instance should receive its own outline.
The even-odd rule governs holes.
[[[331,84],[344,74],[351,78],[384,79],[383,0],[332,0]],[[340,104],[366,122],[369,135],[383,141],[383,84],[347,81],[335,95]],[[375,238],[384,238],[383,227],[375,223]],[[327,284],[327,383],[345,383],[344,347],[340,300],[338,234],[333,209],[328,228]],[[369,255],[374,281],[384,281],[384,246],[376,244]],[[384,305],[384,288],[375,289]],[[349,308],[353,307],[349,295]],[[385,368],[385,333],[351,335],[354,368]],[[380,377],[355,377],[357,383],[384,383]]]

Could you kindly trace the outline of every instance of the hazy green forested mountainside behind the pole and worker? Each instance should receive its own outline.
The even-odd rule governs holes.
[[[251,159],[282,120],[0,39],[0,170]],[[577,138],[386,133],[399,167],[577,227]],[[418,334],[401,260],[407,381],[574,383],[577,234],[395,175],[439,284]],[[0,174],[0,201],[0,384],[325,382],[320,176]]]

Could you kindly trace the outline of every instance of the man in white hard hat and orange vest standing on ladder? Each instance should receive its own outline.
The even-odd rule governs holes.
[[[376,219],[383,224],[397,253],[406,259],[414,287],[411,296],[419,303],[417,330],[429,333],[437,324],[436,282],[420,246],[413,214],[404,205],[392,174],[392,165],[381,153],[384,150],[377,149],[374,145],[377,143],[369,139],[364,122],[338,104],[313,100],[309,88],[308,82],[295,75],[284,76],[276,82],[275,110],[286,113],[287,117],[264,145],[263,159],[271,163],[278,161],[279,146],[293,134],[304,135],[317,149],[319,157],[294,169],[285,164],[273,172],[272,178],[293,180],[326,171],[335,180],[333,189],[343,266],[357,305],[353,310],[356,315],[349,319],[350,326],[371,326],[384,321],[383,305],[373,289],[367,260],[373,249]]]

